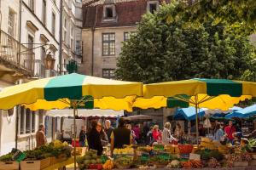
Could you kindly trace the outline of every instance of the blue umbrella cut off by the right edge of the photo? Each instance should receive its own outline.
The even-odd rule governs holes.
[[[229,115],[225,116],[225,118],[249,118],[251,116],[256,115],[256,105],[248,106],[240,111],[235,111],[233,113],[230,113]]]

